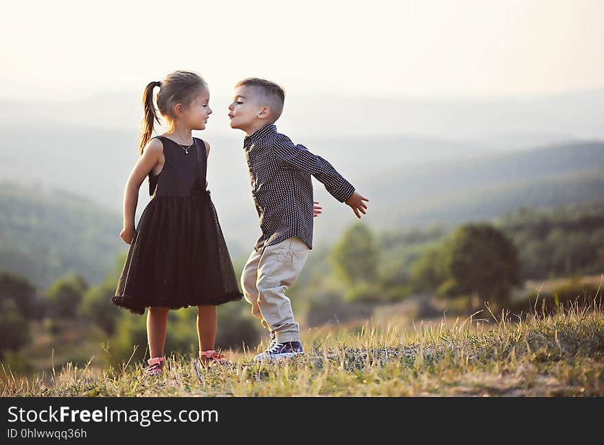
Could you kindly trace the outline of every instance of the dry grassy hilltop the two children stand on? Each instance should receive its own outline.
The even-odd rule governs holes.
[[[2,395],[604,396],[601,296],[555,315],[501,317],[487,307],[412,330],[366,324],[316,330],[303,341],[305,356],[281,363],[233,352],[232,368],[209,370],[201,383],[184,356],[171,357],[156,378],[142,376],[141,363],[104,372],[68,364],[30,380],[4,369]]]

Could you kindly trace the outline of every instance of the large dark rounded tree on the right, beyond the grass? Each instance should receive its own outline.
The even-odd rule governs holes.
[[[489,224],[461,226],[443,252],[450,278],[441,285],[441,293],[472,295],[503,305],[507,304],[513,286],[520,284],[515,246]]]

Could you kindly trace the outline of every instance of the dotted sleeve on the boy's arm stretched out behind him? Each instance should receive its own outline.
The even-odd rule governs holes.
[[[354,187],[321,156],[312,154],[304,145],[294,144],[284,135],[275,141],[277,158],[293,167],[314,176],[339,202],[345,202],[354,193]]]

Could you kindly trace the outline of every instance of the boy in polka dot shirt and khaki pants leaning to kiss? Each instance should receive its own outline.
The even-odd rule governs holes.
[[[231,128],[246,132],[244,150],[262,236],[244,267],[241,285],[252,313],[270,332],[256,361],[303,354],[299,325],[284,291],[299,276],[312,249],[314,201],[311,175],[360,218],[369,202],[325,159],[277,132],[285,93],[274,82],[251,77],[235,85]],[[318,212],[320,213],[320,212]]]

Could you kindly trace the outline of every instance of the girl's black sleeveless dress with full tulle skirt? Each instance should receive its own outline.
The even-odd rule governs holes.
[[[149,194],[113,304],[145,313],[148,306],[178,309],[240,300],[233,263],[207,191],[205,144],[183,147],[165,136],[165,164],[149,174]]]

